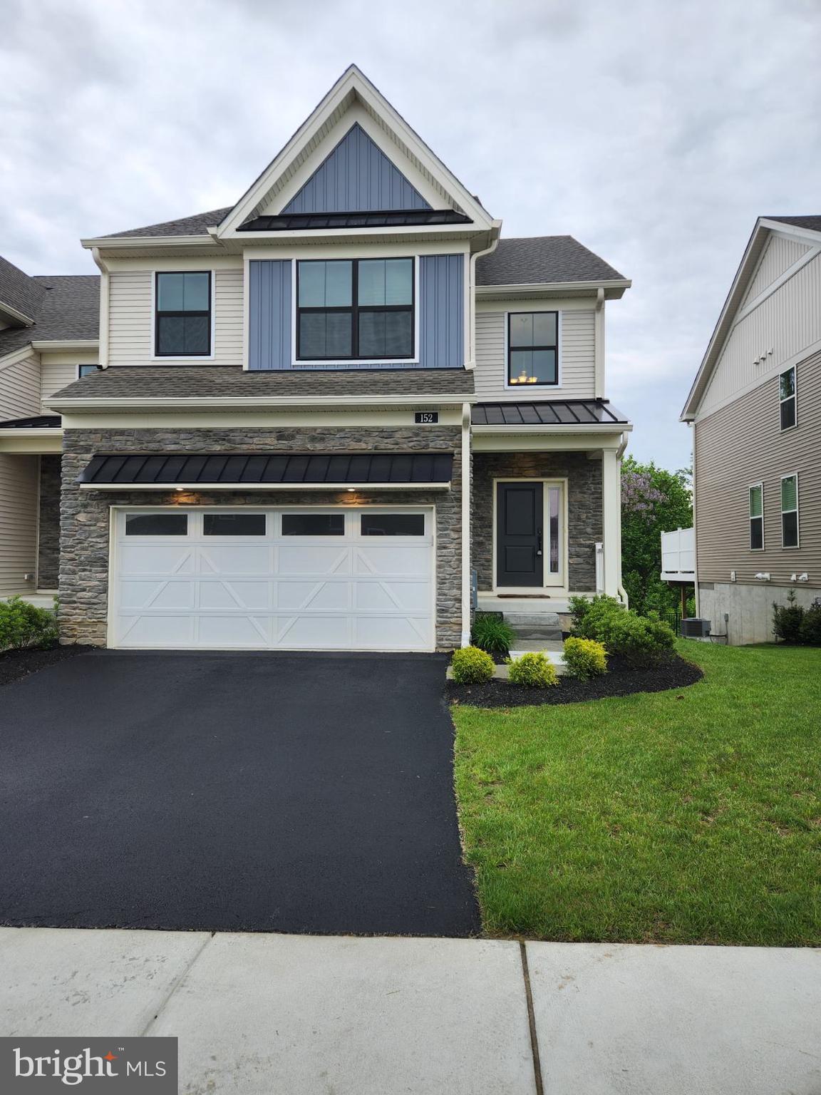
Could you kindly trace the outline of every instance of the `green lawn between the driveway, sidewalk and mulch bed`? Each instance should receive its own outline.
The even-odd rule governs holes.
[[[679,648],[698,684],[452,708],[490,935],[821,944],[821,650]]]

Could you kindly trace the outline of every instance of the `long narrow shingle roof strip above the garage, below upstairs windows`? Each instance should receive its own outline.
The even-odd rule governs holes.
[[[71,399],[215,399],[277,395],[465,395],[465,369],[247,371],[238,366],[114,366],[76,380],[51,396]],[[50,402],[50,401],[49,401]]]

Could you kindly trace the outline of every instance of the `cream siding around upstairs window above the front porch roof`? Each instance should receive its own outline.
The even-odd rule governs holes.
[[[506,328],[508,311],[560,312],[558,388],[506,388]],[[479,400],[593,399],[595,395],[595,312],[547,302],[517,302],[476,312],[476,372]]]

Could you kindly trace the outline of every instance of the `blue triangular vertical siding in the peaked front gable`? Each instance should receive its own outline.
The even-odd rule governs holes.
[[[430,206],[361,126],[355,124],[281,211],[386,209],[430,209]]]

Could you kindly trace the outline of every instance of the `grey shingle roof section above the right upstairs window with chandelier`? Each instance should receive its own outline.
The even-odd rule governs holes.
[[[496,251],[476,261],[476,285],[612,281],[623,277],[571,235],[499,240]]]

